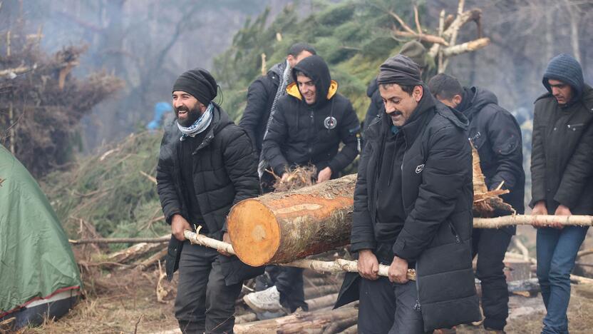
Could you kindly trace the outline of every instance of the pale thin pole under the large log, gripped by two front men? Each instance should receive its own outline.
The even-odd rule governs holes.
[[[194,245],[200,245],[208,248],[214,248],[216,250],[222,250],[227,253],[236,255],[234,253],[234,249],[230,243],[225,243],[222,241],[218,241],[216,239],[208,238],[207,236],[203,236],[201,234],[188,231],[186,230],[184,233],[185,238],[190,241],[190,243]],[[329,272],[329,273],[339,273],[341,271],[349,272],[349,273],[358,273],[358,262],[356,260],[344,260],[344,259],[336,259],[334,261],[320,261],[320,260],[294,260],[290,263],[277,263],[278,265],[284,265],[287,267],[296,267],[296,268],[305,268],[311,269],[315,271],[322,271],[322,272]],[[379,265],[379,276],[388,276],[387,270],[389,269],[388,265]],[[416,272],[412,269],[408,270],[408,280],[416,280]]]

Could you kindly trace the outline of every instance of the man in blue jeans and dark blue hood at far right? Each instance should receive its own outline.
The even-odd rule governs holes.
[[[593,214],[593,88],[580,64],[555,56],[542,80],[547,93],[535,101],[531,156],[534,215]],[[534,224],[537,278],[547,314],[542,333],[568,333],[569,275],[588,226]]]

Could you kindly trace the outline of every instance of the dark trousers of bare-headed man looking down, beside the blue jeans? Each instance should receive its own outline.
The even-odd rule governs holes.
[[[484,327],[503,330],[509,315],[509,294],[504,269],[512,235],[495,228],[474,228],[472,253],[478,255],[476,276],[482,282]]]

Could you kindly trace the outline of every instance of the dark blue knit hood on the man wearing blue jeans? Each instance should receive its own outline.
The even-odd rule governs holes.
[[[583,70],[577,59],[574,59],[569,54],[559,54],[552,58],[550,63],[547,64],[542,83],[547,91],[552,93],[552,88],[550,88],[548,79],[558,80],[569,84],[574,90],[573,98],[581,97],[584,86]]]

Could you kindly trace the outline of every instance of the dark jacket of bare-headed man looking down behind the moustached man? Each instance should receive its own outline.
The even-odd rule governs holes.
[[[525,171],[521,128],[514,116],[498,106],[498,99],[487,89],[464,88],[458,110],[470,121],[469,138],[478,150],[486,186],[493,190],[504,181],[502,196],[517,213],[525,212]],[[507,228],[515,233],[515,226]]]

